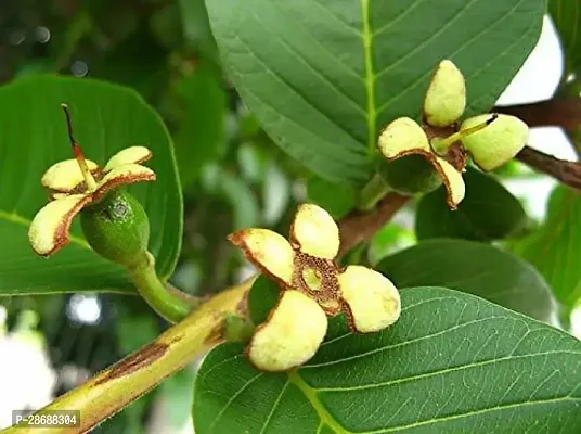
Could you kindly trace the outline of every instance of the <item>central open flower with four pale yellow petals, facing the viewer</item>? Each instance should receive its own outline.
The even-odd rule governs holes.
[[[266,371],[283,371],[309,360],[323,341],[327,316],[345,312],[354,332],[370,333],[400,316],[400,296],[382,273],[362,266],[339,269],[339,229],[323,208],[300,205],[290,237],[268,229],[244,229],[228,239],[282,289],[268,320],[247,348]]]

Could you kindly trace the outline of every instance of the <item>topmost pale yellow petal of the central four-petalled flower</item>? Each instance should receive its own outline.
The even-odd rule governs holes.
[[[339,252],[339,228],[333,217],[313,204],[298,207],[290,237],[300,251],[311,256],[333,259]]]

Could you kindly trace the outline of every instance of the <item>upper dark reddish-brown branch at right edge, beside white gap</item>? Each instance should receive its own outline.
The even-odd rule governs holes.
[[[529,104],[495,106],[504,113],[522,119],[529,127],[563,127],[577,129],[581,125],[581,98],[559,98]]]

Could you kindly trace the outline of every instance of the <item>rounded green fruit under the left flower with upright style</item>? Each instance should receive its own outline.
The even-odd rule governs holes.
[[[150,221],[139,201],[125,191],[113,191],[80,213],[82,232],[101,256],[126,267],[147,252]]]

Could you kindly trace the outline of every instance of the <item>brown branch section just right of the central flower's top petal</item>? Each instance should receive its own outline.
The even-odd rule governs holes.
[[[341,239],[339,255],[370,240],[409,200],[410,196],[389,193],[373,209],[353,210],[343,217],[339,220]]]

